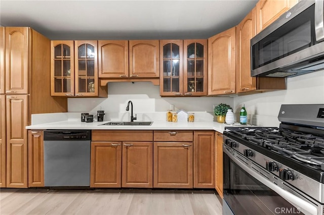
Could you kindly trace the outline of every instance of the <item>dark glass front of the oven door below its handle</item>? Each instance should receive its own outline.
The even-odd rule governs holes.
[[[224,200],[234,214],[303,214],[223,153]]]

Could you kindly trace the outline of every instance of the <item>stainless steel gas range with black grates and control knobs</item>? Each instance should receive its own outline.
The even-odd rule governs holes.
[[[223,214],[323,214],[324,104],[281,105],[276,127],[226,127]]]

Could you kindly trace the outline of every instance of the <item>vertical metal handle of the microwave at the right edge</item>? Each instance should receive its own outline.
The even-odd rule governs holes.
[[[316,41],[324,40],[324,0],[315,0],[315,36]]]

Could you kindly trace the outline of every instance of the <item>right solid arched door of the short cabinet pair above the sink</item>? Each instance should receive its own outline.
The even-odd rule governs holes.
[[[130,77],[159,77],[159,41],[130,40]]]

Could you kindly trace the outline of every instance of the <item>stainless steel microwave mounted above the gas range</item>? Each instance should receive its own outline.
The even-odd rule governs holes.
[[[301,0],[251,39],[251,76],[291,77],[324,69],[324,0]]]

